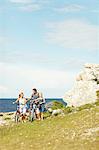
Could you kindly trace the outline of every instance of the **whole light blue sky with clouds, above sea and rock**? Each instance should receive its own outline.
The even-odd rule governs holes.
[[[0,97],[63,97],[99,63],[98,0],[0,0]]]

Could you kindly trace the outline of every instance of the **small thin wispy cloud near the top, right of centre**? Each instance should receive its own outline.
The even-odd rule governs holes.
[[[83,9],[84,9],[83,6],[77,4],[65,5],[63,7],[54,8],[54,10],[57,12],[76,12],[81,11]]]

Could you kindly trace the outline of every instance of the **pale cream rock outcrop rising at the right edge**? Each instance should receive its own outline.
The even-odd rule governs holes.
[[[68,106],[81,106],[97,100],[99,90],[99,64],[85,64],[76,77],[74,87],[64,96]]]

